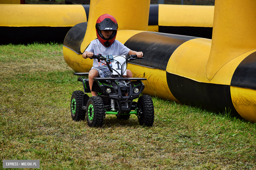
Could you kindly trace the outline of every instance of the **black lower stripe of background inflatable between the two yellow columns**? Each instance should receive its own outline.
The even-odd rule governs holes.
[[[212,27],[159,26],[158,32],[212,39]]]

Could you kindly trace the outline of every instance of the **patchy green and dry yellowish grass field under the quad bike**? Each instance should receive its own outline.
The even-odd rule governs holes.
[[[256,169],[256,124],[153,97],[153,127],[74,122],[62,44],[0,45],[0,159],[40,169]],[[3,167],[2,161],[0,169]]]

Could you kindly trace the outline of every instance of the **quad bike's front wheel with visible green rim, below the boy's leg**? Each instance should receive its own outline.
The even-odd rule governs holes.
[[[90,127],[102,127],[104,110],[104,103],[100,97],[92,96],[88,99],[86,117]]]

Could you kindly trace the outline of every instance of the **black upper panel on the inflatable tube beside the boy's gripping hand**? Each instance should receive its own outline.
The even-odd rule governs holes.
[[[184,42],[196,37],[165,34],[158,32],[141,32],[124,45],[134,51],[142,51],[145,59],[136,59],[131,63],[166,70],[172,53]]]

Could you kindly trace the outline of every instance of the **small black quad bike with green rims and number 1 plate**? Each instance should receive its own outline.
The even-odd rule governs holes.
[[[94,55],[91,59],[98,59],[113,73],[106,78],[94,78],[92,91],[97,96],[89,97],[91,93],[89,79],[79,77],[77,80],[83,83],[82,91],[75,91],[71,97],[70,109],[72,119],[75,121],[87,118],[90,127],[101,127],[107,114],[115,114],[117,119],[129,119],[131,114],[138,116],[139,124],[152,126],[154,123],[154,105],[149,95],[139,94],[144,89],[142,80],[146,78],[124,78],[128,61],[137,58],[136,55],[125,56],[101,56]],[[122,61],[120,61],[122,60]],[[112,62],[112,68],[110,67]],[[88,76],[89,73],[74,73],[77,76]],[[133,101],[138,98],[138,102]]]

